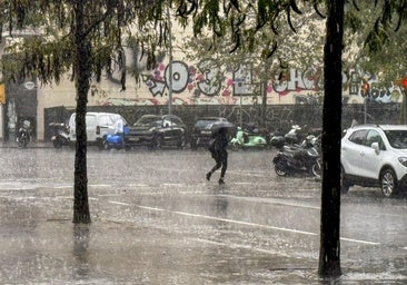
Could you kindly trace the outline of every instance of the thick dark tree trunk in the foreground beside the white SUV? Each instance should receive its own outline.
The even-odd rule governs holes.
[[[338,277],[340,269],[341,52],[345,0],[327,0],[324,47],[322,191],[318,274]]]

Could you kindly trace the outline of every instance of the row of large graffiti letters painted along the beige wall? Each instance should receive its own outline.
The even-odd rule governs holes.
[[[277,92],[279,96],[300,92],[304,90],[320,92],[322,86],[321,68],[307,68],[301,71],[295,68],[272,70],[271,80],[267,86],[267,92]],[[151,76],[146,79],[153,97],[163,96],[169,88],[169,67],[160,63]],[[380,102],[398,101],[401,97],[397,88],[375,87],[377,78],[371,76],[367,81],[370,89],[366,95],[361,94],[361,75],[355,70],[343,75],[344,90],[354,97],[353,101],[363,101],[365,97]],[[187,66],[182,61],[172,61],[172,91],[181,94],[188,90],[198,98],[221,96],[228,102],[232,102],[234,96],[254,95],[252,65],[240,63],[236,69],[229,68],[222,73],[220,65],[212,58],[205,58],[196,67]],[[294,95],[295,96],[295,95]],[[304,95],[301,95],[304,96]],[[270,97],[271,98],[271,97]]]

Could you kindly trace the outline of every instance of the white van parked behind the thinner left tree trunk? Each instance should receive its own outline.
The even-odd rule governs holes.
[[[69,139],[71,142],[77,140],[76,117],[77,115],[73,112],[69,119]],[[115,122],[118,117],[121,116],[113,112],[87,112],[86,125],[88,144],[103,148],[103,137],[115,132]],[[125,118],[121,117],[121,119],[126,124]]]

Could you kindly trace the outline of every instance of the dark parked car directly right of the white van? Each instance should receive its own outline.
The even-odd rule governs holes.
[[[149,149],[186,146],[187,127],[176,115],[145,115],[125,134],[126,148],[147,146]]]

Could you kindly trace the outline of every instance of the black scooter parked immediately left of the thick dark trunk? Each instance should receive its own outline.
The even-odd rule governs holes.
[[[308,136],[301,145],[282,147],[272,159],[278,176],[306,174],[321,176],[321,161],[316,146],[315,136]]]

